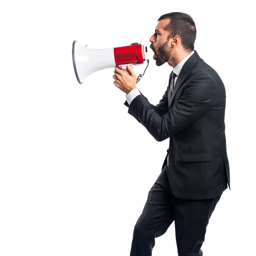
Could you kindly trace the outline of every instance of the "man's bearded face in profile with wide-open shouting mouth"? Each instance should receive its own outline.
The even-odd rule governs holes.
[[[169,21],[169,19],[159,20],[154,35],[149,39],[151,42],[150,48],[154,52],[153,58],[156,60],[157,66],[166,63],[171,56],[172,49],[169,47],[169,40],[167,41],[169,33],[164,30]]]

